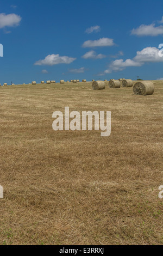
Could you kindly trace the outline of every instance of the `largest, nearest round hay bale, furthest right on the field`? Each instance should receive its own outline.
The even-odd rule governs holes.
[[[136,95],[151,95],[154,93],[154,84],[151,81],[136,82],[133,92]]]

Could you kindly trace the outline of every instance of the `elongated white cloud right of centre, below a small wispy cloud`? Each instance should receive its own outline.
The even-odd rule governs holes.
[[[99,47],[99,46],[112,46],[115,45],[113,39],[110,38],[101,38],[98,40],[88,40],[85,41],[83,47]]]

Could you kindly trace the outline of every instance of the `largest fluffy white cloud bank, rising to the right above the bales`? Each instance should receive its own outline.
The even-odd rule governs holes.
[[[133,59],[116,59],[109,65],[109,69],[105,70],[105,74],[112,71],[122,71],[129,66],[142,66],[149,62],[163,62],[163,57],[159,56],[159,49],[156,47],[146,47],[142,51],[137,51]]]

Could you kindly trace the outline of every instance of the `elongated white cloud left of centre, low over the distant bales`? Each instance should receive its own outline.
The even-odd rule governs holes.
[[[57,64],[70,64],[77,58],[72,58],[72,57],[67,57],[67,56],[59,56],[59,54],[52,54],[48,55],[45,59],[40,59],[37,62],[35,62],[34,65],[48,65],[48,66],[53,66]]]

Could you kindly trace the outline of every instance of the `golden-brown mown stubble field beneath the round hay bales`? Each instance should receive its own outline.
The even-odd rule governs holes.
[[[0,245],[162,245],[163,81],[0,88]],[[54,131],[54,111],[111,111],[111,135]]]

